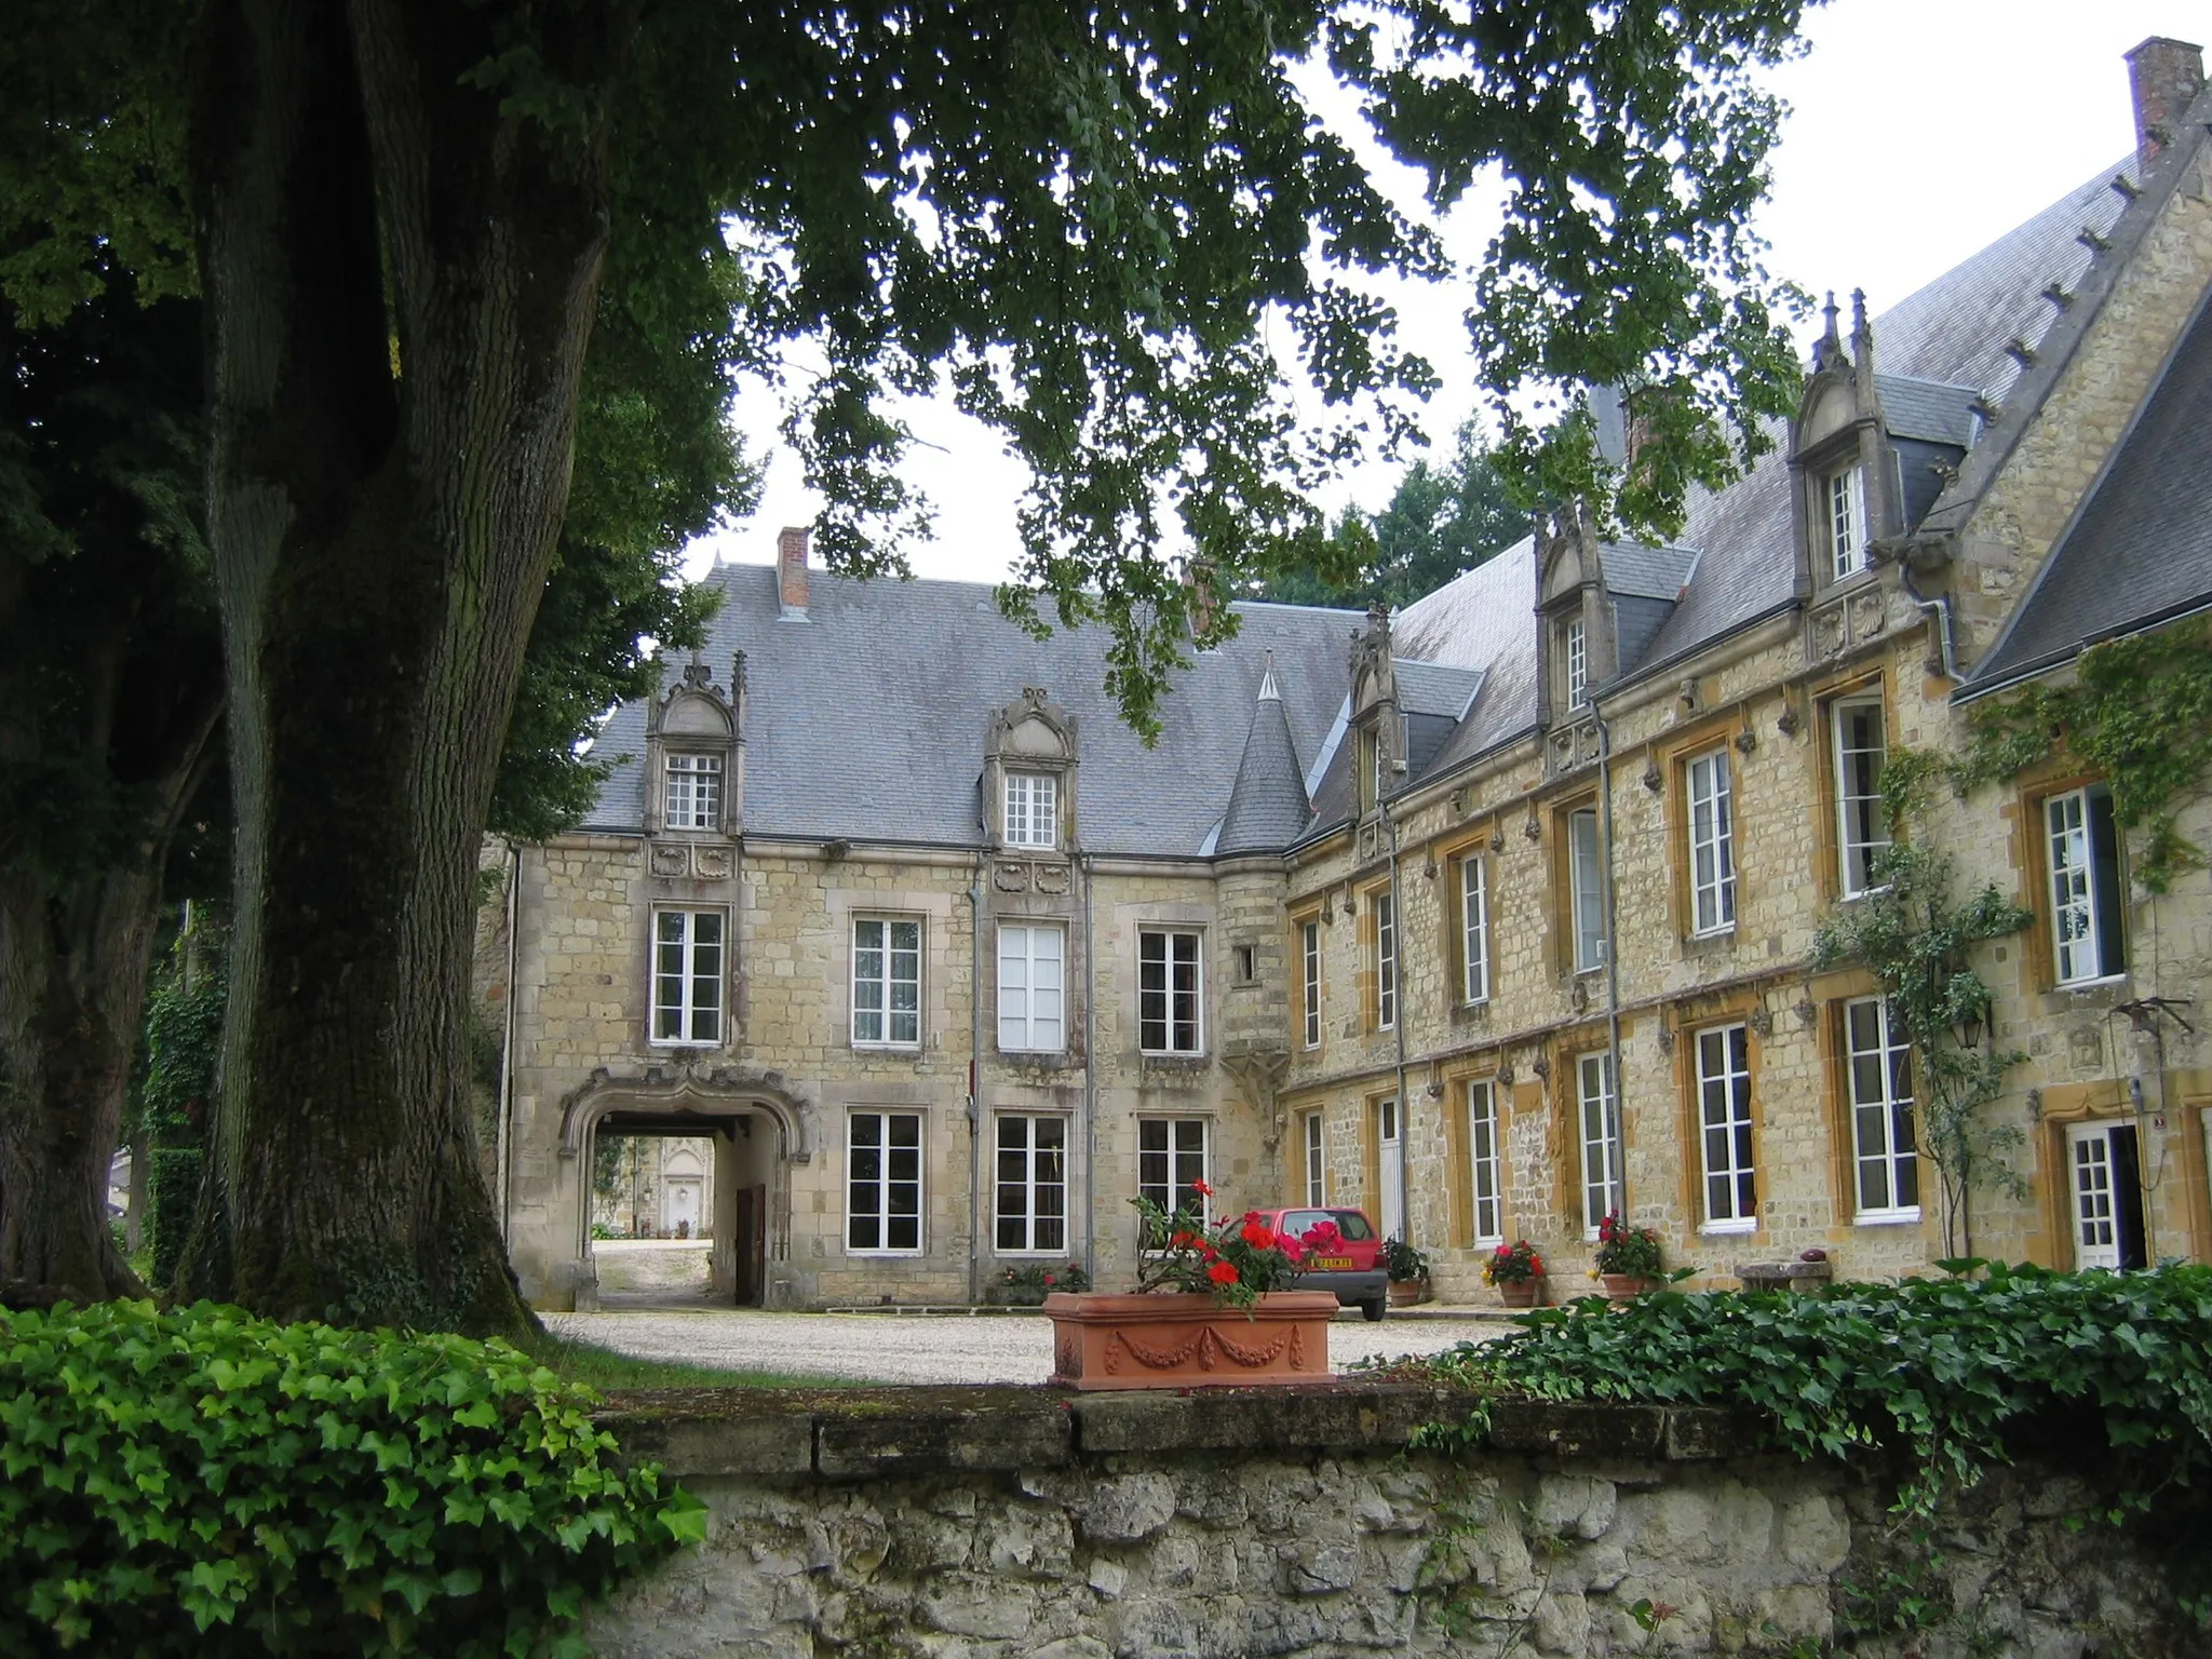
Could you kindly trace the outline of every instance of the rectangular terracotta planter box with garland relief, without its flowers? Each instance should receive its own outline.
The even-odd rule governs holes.
[[[1327,1383],[1336,1294],[1272,1290],[1245,1318],[1212,1296],[1053,1292],[1053,1385],[1064,1389],[1210,1389]]]

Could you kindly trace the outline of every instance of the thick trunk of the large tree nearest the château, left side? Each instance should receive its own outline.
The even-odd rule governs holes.
[[[606,239],[606,18],[210,7],[192,173],[237,916],[186,1283],[265,1314],[531,1323],[465,1002]],[[465,84],[493,60],[520,80]]]

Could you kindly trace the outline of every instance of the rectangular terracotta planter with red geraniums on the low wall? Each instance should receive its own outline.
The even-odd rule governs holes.
[[[1192,1181],[1197,1201],[1212,1188]],[[1336,1292],[1285,1290],[1307,1243],[1259,1210],[1208,1221],[1135,1199],[1135,1294],[1053,1290],[1053,1383],[1073,1389],[1188,1389],[1329,1380]],[[1312,1234],[1307,1234],[1312,1237]]]

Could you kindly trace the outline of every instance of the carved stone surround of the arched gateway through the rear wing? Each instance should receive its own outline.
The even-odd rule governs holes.
[[[597,1303],[591,1248],[593,1144],[602,1133],[686,1135],[714,1148],[712,1290],[734,1305],[790,1305],[792,1183],[821,1144],[814,1093],[783,1073],[743,1064],[657,1062],[599,1066],[562,1099],[562,1190],[573,1197],[549,1281],[573,1285],[573,1305]],[[553,1239],[540,1239],[553,1245]],[[520,1252],[518,1252],[520,1254]],[[551,1252],[549,1252],[551,1254]]]

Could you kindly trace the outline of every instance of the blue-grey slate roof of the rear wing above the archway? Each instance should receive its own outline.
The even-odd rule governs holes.
[[[726,564],[708,584],[723,595],[703,653],[719,684],[745,653],[745,834],[785,838],[980,847],[984,730],[1024,686],[1044,686],[1077,726],[1082,847],[1194,856],[1230,803],[1267,653],[1290,737],[1312,754],[1343,703],[1360,622],[1352,611],[1237,604],[1239,635],[1175,677],[1148,750],[1104,690],[1104,628],[1031,639],[975,582],[812,571],[807,622],[779,619],[772,566]],[[584,830],[635,834],[644,703],[617,708],[595,748],[619,759]]]

